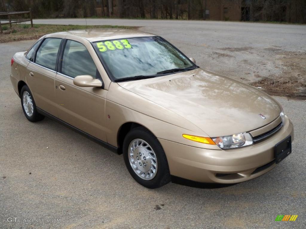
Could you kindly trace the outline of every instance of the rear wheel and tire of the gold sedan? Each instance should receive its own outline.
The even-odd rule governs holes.
[[[21,88],[20,100],[21,100],[21,107],[22,107],[23,113],[30,122],[38,122],[38,121],[43,120],[43,118],[45,118],[45,116],[37,112],[35,101],[27,85],[24,85]]]

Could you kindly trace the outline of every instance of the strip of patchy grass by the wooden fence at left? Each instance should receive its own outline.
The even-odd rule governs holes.
[[[86,29],[85,25],[43,25],[35,24],[33,28],[28,24],[13,24],[12,28],[2,27],[3,34],[0,34],[0,43],[12,42],[12,41],[23,41],[38,39],[43,35],[49,33],[56,33],[62,31],[70,31],[77,29]],[[119,28],[119,29],[137,29],[138,27],[133,26],[113,26],[113,25],[88,25],[88,29],[91,28]]]

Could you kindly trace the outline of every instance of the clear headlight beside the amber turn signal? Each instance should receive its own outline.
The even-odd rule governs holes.
[[[221,149],[233,149],[253,144],[253,139],[250,133],[239,133],[211,139]]]

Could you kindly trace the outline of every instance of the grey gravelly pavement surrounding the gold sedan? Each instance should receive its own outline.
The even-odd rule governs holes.
[[[34,21],[43,22],[83,23]],[[140,30],[165,37],[195,57],[200,67],[247,83],[268,77],[269,71],[280,77],[284,67],[278,52],[302,53],[306,47],[306,26],[299,25],[117,19],[87,23],[145,25]],[[0,44],[1,229],[305,227],[305,100],[275,97],[293,121],[295,140],[293,153],[269,173],[227,187],[176,180],[149,190],[132,179],[122,155],[48,118],[27,121],[9,80],[10,59],[33,42]],[[301,68],[295,74],[302,73]],[[275,222],[276,216],[286,214],[298,215],[297,220]],[[15,223],[8,217],[61,221]]]

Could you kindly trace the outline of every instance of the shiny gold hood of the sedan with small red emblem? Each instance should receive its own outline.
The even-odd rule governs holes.
[[[182,116],[211,137],[257,129],[281,112],[277,102],[258,89],[201,68],[119,85]]]

